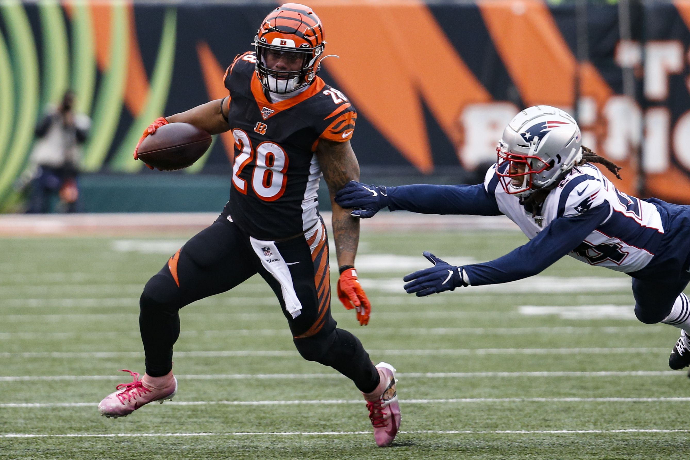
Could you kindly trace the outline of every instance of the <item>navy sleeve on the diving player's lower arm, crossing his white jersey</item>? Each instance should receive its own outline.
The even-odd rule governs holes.
[[[609,217],[609,212],[609,204],[602,203],[575,217],[559,217],[529,243],[503,257],[464,266],[471,286],[508,283],[542,272],[577,248]]]

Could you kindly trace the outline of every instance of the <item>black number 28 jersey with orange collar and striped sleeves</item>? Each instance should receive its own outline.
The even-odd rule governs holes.
[[[235,58],[225,75],[228,124],[235,137],[233,185],[226,210],[257,239],[293,237],[319,220],[319,139],[352,138],[357,112],[317,77],[295,97],[270,103],[255,72],[256,54]]]

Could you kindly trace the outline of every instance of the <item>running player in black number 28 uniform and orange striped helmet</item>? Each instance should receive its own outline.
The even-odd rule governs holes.
[[[139,302],[146,374],[139,380],[131,372],[131,383],[101,401],[101,414],[124,417],[146,403],[172,399],[179,309],[259,273],[278,298],[299,354],[353,380],[364,393],[379,446],[395,438],[400,427],[395,369],[388,363],[373,366],[357,337],[336,328],[331,317],[328,238],[317,210],[322,176],[333,206],[338,297],[357,310],[362,325],[371,304],[354,268],[359,221],[333,201],[339,188],[359,179],[350,145],[357,112],[342,92],[317,77],[325,43],[313,10],[286,3],[264,19],[255,51],[237,56],[226,71],[228,97],[159,118],[144,132],[141,139],[176,122],[211,134],[232,130],[230,201],[213,225],[187,241],[146,283]]]

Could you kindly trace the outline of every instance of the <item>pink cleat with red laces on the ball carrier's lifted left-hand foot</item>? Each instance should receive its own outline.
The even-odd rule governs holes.
[[[150,377],[144,374],[139,380],[139,374],[131,370],[120,370],[132,374],[131,383],[120,383],[114,393],[108,394],[98,405],[98,411],[105,417],[127,417],[144,404],[158,401],[170,401],[177,393],[177,379],[172,370],[163,377]]]

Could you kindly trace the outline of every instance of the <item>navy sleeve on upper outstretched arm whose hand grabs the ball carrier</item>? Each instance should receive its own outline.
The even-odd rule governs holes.
[[[406,210],[420,214],[471,214],[498,216],[496,199],[486,192],[484,185],[431,186],[414,185],[386,187],[388,209]]]

